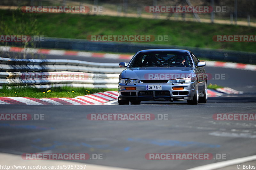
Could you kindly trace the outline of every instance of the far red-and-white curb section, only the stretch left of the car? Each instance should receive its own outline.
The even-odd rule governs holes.
[[[4,52],[25,52],[24,48],[20,47],[8,47],[0,46],[0,51]],[[94,53],[94,52],[83,52],[83,51],[66,51],[66,50],[50,50],[50,49],[33,49],[26,48],[27,53],[37,54],[49,54],[58,56],[78,56],[78,57],[94,57],[94,58],[110,58],[110,59],[128,59],[130,60],[133,55],[127,54],[110,54],[110,53]]]

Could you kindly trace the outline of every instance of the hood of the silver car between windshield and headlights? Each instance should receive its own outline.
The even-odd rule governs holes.
[[[174,78],[193,77],[194,68],[184,67],[135,67],[127,68],[126,79],[136,80],[171,80]]]

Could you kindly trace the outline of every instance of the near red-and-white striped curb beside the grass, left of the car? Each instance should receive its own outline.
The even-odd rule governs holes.
[[[27,105],[90,105],[104,104],[117,99],[117,91],[105,91],[75,98],[30,98],[30,97],[0,97],[0,104]]]

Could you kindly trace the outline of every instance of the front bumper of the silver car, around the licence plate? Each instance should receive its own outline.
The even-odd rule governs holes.
[[[147,85],[161,85],[162,89],[147,90]],[[136,90],[125,90],[126,87],[136,87]],[[183,87],[184,89],[173,90],[173,87]],[[194,95],[195,81],[187,83],[118,83],[118,98],[120,100],[192,100]]]

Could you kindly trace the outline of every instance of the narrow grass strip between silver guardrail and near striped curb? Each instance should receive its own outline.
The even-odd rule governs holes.
[[[51,91],[48,91],[51,90]],[[32,97],[32,98],[50,98],[50,97],[76,97],[84,96],[92,93],[109,91],[117,89],[91,89],[91,88],[75,88],[75,87],[54,87],[50,89],[36,89],[26,86],[4,86],[0,89],[0,97]],[[47,92],[48,91],[48,92]],[[74,92],[73,92],[74,91]]]

